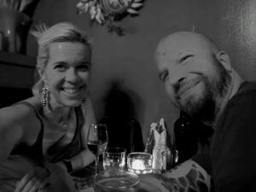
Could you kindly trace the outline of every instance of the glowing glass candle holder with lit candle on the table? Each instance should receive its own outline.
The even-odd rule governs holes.
[[[127,155],[127,167],[129,172],[137,174],[145,174],[152,172],[152,154],[147,153],[131,153]]]

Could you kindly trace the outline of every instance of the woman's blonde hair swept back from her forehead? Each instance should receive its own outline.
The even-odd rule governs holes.
[[[49,60],[49,45],[57,42],[79,42],[88,46],[91,54],[91,46],[88,36],[78,26],[61,22],[47,28],[38,26],[37,31],[31,32],[38,39],[37,69],[44,71]],[[37,73],[37,72],[36,72]],[[33,95],[38,95],[44,88],[44,81],[38,75],[38,81],[32,87]]]

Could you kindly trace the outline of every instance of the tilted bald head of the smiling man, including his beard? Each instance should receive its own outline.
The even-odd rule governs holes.
[[[177,108],[195,119],[214,119],[218,99],[229,85],[229,74],[213,52],[203,38],[190,33],[166,38],[156,52],[167,94]]]

